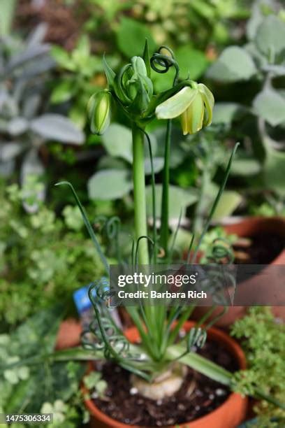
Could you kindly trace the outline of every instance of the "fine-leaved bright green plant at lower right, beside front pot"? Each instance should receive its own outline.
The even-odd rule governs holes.
[[[231,334],[242,339],[249,365],[247,370],[235,373],[235,390],[252,394],[258,387],[273,398],[272,402],[263,400],[254,406],[258,418],[253,426],[282,427],[285,413],[274,399],[284,402],[285,397],[284,324],[274,318],[270,308],[253,307],[233,324]]]

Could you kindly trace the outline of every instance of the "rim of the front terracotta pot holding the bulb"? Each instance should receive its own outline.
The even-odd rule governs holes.
[[[190,329],[195,324],[196,324],[195,321],[188,320],[188,321],[186,321],[184,323],[183,327],[186,327],[187,329]],[[213,338],[214,341],[217,341],[219,343],[222,342],[225,345],[226,349],[229,352],[231,352],[232,355],[235,356],[235,358],[237,359],[237,362],[238,362],[238,365],[239,365],[240,369],[246,369],[247,361],[246,361],[246,357],[244,355],[244,352],[243,352],[242,348],[240,348],[240,345],[233,338],[231,338],[231,336],[229,336],[224,331],[221,331],[220,329],[217,329],[215,327],[211,327],[207,331],[207,334],[208,334],[208,336],[210,338]],[[133,338],[133,335],[136,335],[138,337],[138,330],[136,329],[136,327],[130,327],[129,329],[126,329],[125,335],[129,339]],[[92,368],[91,368],[91,362],[90,362],[90,365],[89,365],[89,370],[92,370]],[[85,386],[82,386],[82,392],[83,392],[83,394],[86,394],[89,391],[87,390],[87,388]],[[205,424],[207,424],[207,423],[209,424],[210,419],[211,419],[211,417],[213,415],[215,415],[217,412],[221,411],[226,406],[231,405],[231,403],[233,403],[237,399],[243,399],[244,403],[247,402],[247,397],[242,397],[237,392],[231,392],[231,394],[228,396],[228,398],[226,399],[226,401],[224,401],[224,403],[221,404],[221,406],[217,407],[214,411],[212,411],[210,413],[207,413],[207,415],[204,415],[201,418],[197,418],[197,419],[191,420],[190,422],[185,421],[185,422],[182,423],[182,425],[181,424],[180,425],[183,426],[184,424],[187,424],[187,426],[189,425],[189,428],[190,428],[191,425],[194,425],[194,424],[196,424],[198,422],[201,422],[201,423],[204,422]],[[105,413],[103,413],[94,404],[94,401],[92,401],[92,399],[85,399],[85,406],[89,410],[89,413],[91,413],[98,420],[100,420],[101,422],[105,423],[106,425],[109,425],[110,427],[117,427],[117,428],[129,428],[129,427],[133,427],[133,428],[140,428],[139,425],[126,425],[126,424],[124,424],[124,422],[119,422],[118,420],[110,418],[110,416],[108,416]],[[210,426],[210,425],[205,425],[205,426]],[[170,425],[170,427],[171,427],[171,425]]]

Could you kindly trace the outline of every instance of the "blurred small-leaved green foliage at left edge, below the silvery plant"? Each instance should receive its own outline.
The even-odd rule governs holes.
[[[63,217],[38,201],[41,184],[0,187],[0,316],[3,325],[24,320],[38,309],[66,300],[101,273],[101,264],[82,231],[78,208],[66,206]],[[24,213],[22,203],[38,206]],[[37,305],[34,305],[34,302]]]

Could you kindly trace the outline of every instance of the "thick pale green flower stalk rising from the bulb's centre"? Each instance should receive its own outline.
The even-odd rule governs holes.
[[[145,202],[145,144],[142,130],[133,124],[133,199],[135,203],[135,238],[147,236],[147,209]],[[149,264],[147,238],[139,241],[138,263]]]

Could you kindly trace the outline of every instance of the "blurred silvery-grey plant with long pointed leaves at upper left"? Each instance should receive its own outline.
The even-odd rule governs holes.
[[[50,113],[46,85],[54,60],[50,45],[43,43],[45,24],[26,41],[1,39],[0,47],[0,175],[13,173],[20,159],[20,180],[42,176],[45,144],[57,141],[82,145],[85,135],[67,117]]]

